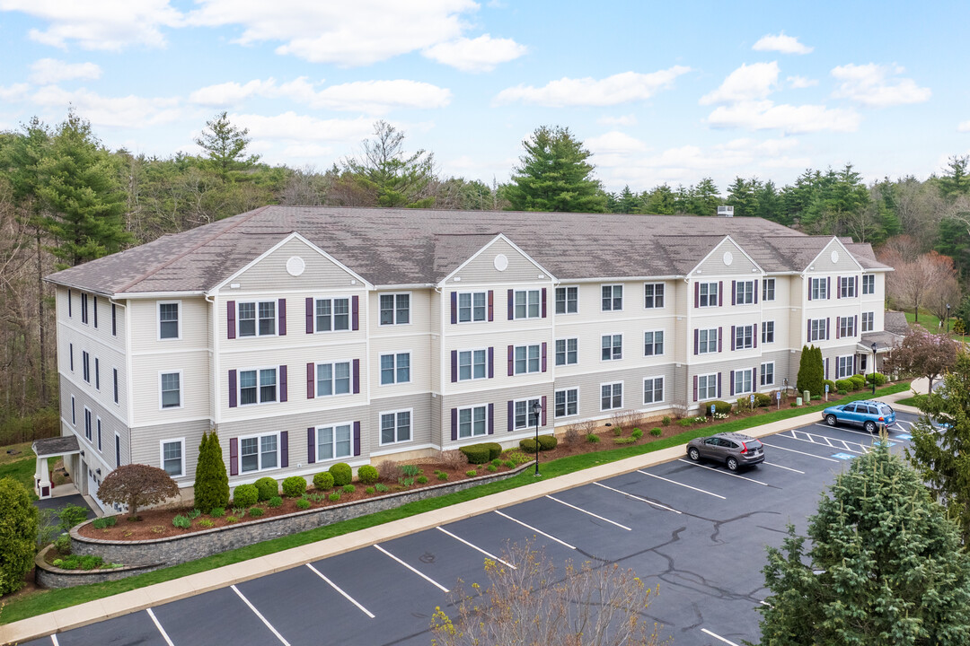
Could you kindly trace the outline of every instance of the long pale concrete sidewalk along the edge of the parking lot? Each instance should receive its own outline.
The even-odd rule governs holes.
[[[914,386],[918,386],[918,384],[914,382]],[[925,385],[922,387],[925,388]],[[910,396],[912,396],[910,391],[904,391],[886,397],[880,397],[879,399],[880,401],[892,403],[898,399]],[[899,408],[900,410],[918,412],[910,407]],[[798,415],[789,419],[746,429],[745,433],[760,438],[821,421],[821,419],[822,417],[818,412],[808,413],[806,415]],[[433,529],[438,525],[445,525],[469,518],[470,516],[476,516],[541,498],[548,494],[554,494],[575,486],[589,484],[599,479],[619,476],[636,471],[637,469],[645,469],[663,462],[676,460],[683,457],[684,450],[684,446],[671,446],[670,448],[664,448],[652,453],[645,453],[617,462],[610,462],[609,464],[598,467],[573,472],[566,474],[566,476],[541,480],[533,484],[485,496],[467,503],[459,503],[458,505],[427,511],[360,532],[327,538],[300,547],[276,552],[275,554],[268,554],[248,561],[242,561],[231,566],[210,569],[205,572],[183,576],[172,581],[120,593],[113,597],[88,601],[81,603],[81,605],[55,610],[44,615],[38,615],[13,624],[0,626],[0,643],[18,643],[43,637],[53,632],[80,628],[81,626],[93,624],[104,619],[111,619],[130,612],[144,610],[149,607],[168,603],[169,601],[185,599],[186,597],[209,592],[210,590],[225,588],[282,569],[296,568],[313,561],[319,561],[320,559],[349,552],[359,547],[368,547],[373,543],[384,542],[414,534],[415,532]]]

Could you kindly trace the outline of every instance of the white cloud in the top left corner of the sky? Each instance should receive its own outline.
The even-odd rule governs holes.
[[[0,0],[0,11],[21,12],[49,23],[29,37],[44,45],[117,51],[126,46],[165,46],[160,27],[176,27],[182,15],[169,0]]]

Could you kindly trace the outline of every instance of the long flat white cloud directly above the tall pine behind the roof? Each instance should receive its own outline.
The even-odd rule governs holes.
[[[502,90],[495,98],[497,104],[517,101],[550,108],[564,106],[616,106],[631,101],[645,101],[657,92],[673,85],[676,77],[691,71],[676,65],[651,74],[624,72],[612,77],[560,78],[543,87],[516,85]]]

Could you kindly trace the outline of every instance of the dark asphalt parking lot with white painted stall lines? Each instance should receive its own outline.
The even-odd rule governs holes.
[[[897,413],[893,451],[915,419]],[[804,532],[824,487],[872,441],[820,415],[763,438],[765,462],[748,471],[685,457],[26,643],[427,646],[458,579],[484,581],[484,559],[528,538],[557,564],[618,563],[659,585],[647,615],[678,646],[757,643],[764,545],[790,522]]]

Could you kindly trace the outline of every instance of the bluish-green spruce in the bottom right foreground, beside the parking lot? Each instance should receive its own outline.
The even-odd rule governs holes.
[[[761,644],[970,643],[970,558],[885,435],[836,478],[808,538],[806,552],[790,525],[767,550]]]

